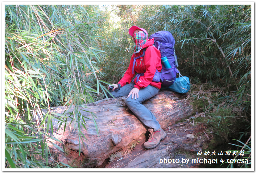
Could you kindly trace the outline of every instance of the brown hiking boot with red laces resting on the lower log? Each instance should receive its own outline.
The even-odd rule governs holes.
[[[148,131],[150,132],[149,139],[147,142],[144,143],[144,147],[146,149],[155,148],[159,144],[160,140],[163,140],[166,136],[166,133],[163,131],[162,128],[159,128],[155,132],[153,128],[149,128]]]

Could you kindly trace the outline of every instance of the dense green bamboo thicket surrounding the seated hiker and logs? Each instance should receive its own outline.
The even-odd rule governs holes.
[[[173,34],[179,70],[191,79],[189,98],[197,100],[198,116],[208,117],[224,138],[233,130],[221,132],[221,127],[237,121],[248,124],[240,135],[250,136],[251,5],[111,8],[5,5],[6,167],[63,167],[53,161],[47,145],[46,137],[54,140],[52,119],[61,125],[72,116],[85,127],[88,117],[81,116],[78,105],[101,99],[105,85],[122,78],[133,53],[128,34],[133,25],[149,35],[159,30]],[[71,115],[41,111],[71,105]]]

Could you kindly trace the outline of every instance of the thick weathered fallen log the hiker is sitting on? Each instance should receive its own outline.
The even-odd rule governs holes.
[[[80,125],[70,123],[72,117],[67,120],[64,131],[64,125],[59,128],[57,120],[52,119],[55,131],[52,136],[62,141],[55,143],[66,153],[63,153],[58,147],[52,145],[52,151],[56,155],[58,162],[63,162],[70,166],[79,168],[93,168],[101,165],[111,154],[130,144],[130,142],[147,131],[147,128],[126,106],[121,107],[122,98],[100,100],[95,104],[89,104],[88,108],[79,107],[81,115],[90,118],[86,120],[86,129]],[[184,100],[184,95],[163,90],[156,96],[143,103],[159,121],[163,129],[175,124],[194,112],[189,102]],[[67,107],[51,107],[51,112],[63,114]],[[71,112],[72,108],[68,112]],[[93,112],[97,118],[97,127],[90,112]],[[73,121],[74,122],[74,121]],[[79,135],[77,128],[81,129],[83,135]],[[81,148],[81,154],[79,153]]]

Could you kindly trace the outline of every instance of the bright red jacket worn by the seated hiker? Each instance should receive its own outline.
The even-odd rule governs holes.
[[[124,77],[122,77],[122,79],[118,82],[121,86],[126,85],[126,83],[130,84],[136,73],[144,73],[144,76],[139,77],[138,82],[136,82],[136,78],[134,79],[134,87],[141,89],[151,85],[159,89],[161,88],[161,82],[152,82],[155,75],[155,70],[157,69],[160,72],[162,69],[160,51],[155,48],[153,44],[154,38],[148,39],[143,45],[142,49],[147,48],[145,57],[140,57],[136,60],[134,65],[134,74],[132,74],[133,58],[135,56],[133,53],[130,60],[130,65],[126,70]],[[140,52],[136,53],[136,57],[142,55],[142,52],[143,51],[141,50]]]

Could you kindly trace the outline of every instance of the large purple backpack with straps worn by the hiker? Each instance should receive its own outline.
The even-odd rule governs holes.
[[[153,78],[153,82],[161,82],[162,87],[168,87],[172,85],[176,79],[177,73],[179,71],[176,67],[178,67],[178,61],[177,57],[175,55],[175,49],[174,44],[175,40],[172,36],[172,34],[168,31],[159,31],[156,33],[153,33],[150,37],[150,39],[154,38],[154,46],[160,50],[161,58],[167,57],[167,60],[171,66],[171,68],[166,69],[163,62],[162,62],[162,71],[158,72],[156,70],[155,76]],[[143,49],[143,54],[139,57],[145,56],[146,49]],[[134,57],[134,63],[133,68],[135,64],[135,60],[139,57]],[[139,79],[139,76],[143,76],[143,73],[137,74],[137,82]]]

